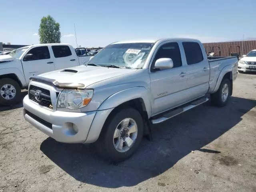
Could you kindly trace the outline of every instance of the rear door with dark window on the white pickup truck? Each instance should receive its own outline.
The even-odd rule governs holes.
[[[52,45],[54,64],[56,70],[78,66],[78,57],[75,51],[71,51],[68,45]]]

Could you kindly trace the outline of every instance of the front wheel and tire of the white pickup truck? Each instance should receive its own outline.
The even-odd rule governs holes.
[[[8,95],[5,91],[7,91]],[[21,89],[18,82],[10,78],[0,79],[0,105],[10,106],[17,104],[20,102],[20,96]]]

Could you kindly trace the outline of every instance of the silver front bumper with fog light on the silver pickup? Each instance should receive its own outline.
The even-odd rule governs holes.
[[[92,143],[98,139],[102,126],[112,109],[92,112],[63,112],[48,110],[23,100],[24,118],[38,130],[65,143]],[[73,127],[77,128],[77,132]],[[89,134],[90,132],[90,134]]]

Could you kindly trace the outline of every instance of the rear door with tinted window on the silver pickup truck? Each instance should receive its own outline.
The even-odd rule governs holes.
[[[182,42],[182,46],[187,64],[188,90],[190,92],[188,100],[193,100],[208,92],[210,65],[207,58],[204,58],[206,54],[202,53],[203,47],[198,42]]]

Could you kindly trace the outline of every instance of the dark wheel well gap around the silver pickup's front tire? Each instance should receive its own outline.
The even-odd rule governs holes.
[[[126,101],[126,102],[118,105],[117,107],[115,107],[112,110],[112,112],[108,115],[108,118],[106,119],[103,127],[105,127],[105,124],[107,124],[116,113],[118,113],[120,110],[122,110],[124,108],[128,108],[128,107],[134,108],[134,109],[138,110],[138,112],[140,112],[143,122],[144,122],[143,123],[144,124],[144,135],[149,135],[151,133],[150,122],[148,119],[148,113],[146,110],[146,106],[145,106],[142,98],[136,98],[136,99]],[[102,133],[102,131],[101,131],[101,133]]]

